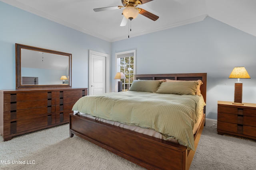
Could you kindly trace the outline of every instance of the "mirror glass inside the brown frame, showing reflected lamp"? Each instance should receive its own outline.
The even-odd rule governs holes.
[[[68,84],[68,70],[68,56],[21,49],[22,85]]]

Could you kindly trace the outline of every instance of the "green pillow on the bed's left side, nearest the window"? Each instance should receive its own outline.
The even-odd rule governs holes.
[[[129,91],[136,92],[156,92],[160,85],[160,81],[156,80],[134,80]]]

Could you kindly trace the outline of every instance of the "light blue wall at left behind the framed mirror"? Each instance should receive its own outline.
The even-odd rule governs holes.
[[[15,89],[15,43],[72,54],[72,87],[88,87],[88,50],[111,43],[0,2],[0,89]]]

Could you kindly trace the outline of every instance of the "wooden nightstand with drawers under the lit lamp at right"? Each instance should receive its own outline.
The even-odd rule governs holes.
[[[256,139],[256,104],[218,101],[218,134]]]

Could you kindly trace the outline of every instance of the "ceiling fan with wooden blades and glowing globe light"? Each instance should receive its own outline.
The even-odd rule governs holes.
[[[95,8],[93,10],[95,12],[100,12],[100,11],[116,10],[116,9],[124,8],[122,13],[124,17],[122,19],[120,26],[125,26],[128,20],[135,19],[138,16],[138,14],[141,14],[153,21],[156,21],[159,18],[155,14],[152,14],[142,8],[136,8],[136,6],[146,4],[147,2],[150,2],[152,0],[121,0],[121,1],[124,6],[110,6],[110,7],[104,7],[104,8]]]

